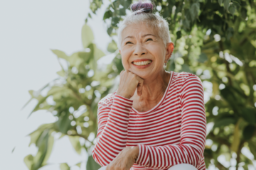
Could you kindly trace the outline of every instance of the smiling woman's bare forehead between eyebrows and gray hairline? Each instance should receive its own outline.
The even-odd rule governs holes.
[[[152,34],[158,37],[157,31],[145,23],[132,23],[122,31],[122,40],[127,36],[142,36],[145,34]]]

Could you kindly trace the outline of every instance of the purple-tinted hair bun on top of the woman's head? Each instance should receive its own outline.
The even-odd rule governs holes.
[[[138,1],[131,6],[133,12],[137,11],[138,13],[152,13],[154,5],[150,1]]]

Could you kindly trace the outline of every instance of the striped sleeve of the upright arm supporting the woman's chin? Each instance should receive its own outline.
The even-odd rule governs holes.
[[[132,100],[115,95],[112,106],[102,98],[98,103],[97,142],[92,157],[101,166],[110,164],[127,145],[127,127]]]

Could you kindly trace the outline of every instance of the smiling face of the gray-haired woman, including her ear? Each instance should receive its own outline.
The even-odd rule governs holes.
[[[170,47],[165,47],[158,33],[146,24],[132,24],[122,31],[119,52],[124,69],[142,79],[156,77],[163,71],[164,60],[171,56],[169,51]]]

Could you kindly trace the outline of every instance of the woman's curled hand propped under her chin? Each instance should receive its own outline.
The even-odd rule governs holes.
[[[117,94],[124,98],[131,98],[137,88],[137,94],[142,95],[143,79],[129,71],[120,73],[120,83]]]

